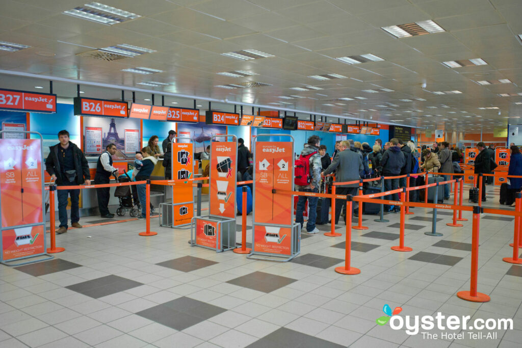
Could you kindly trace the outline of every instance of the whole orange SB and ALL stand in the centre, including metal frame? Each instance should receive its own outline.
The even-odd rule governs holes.
[[[259,141],[288,137],[289,141]],[[301,251],[301,225],[293,222],[293,137],[260,134],[254,140],[254,226],[248,258],[289,261]]]

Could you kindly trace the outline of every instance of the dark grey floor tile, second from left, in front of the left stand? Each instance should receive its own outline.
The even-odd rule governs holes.
[[[134,280],[118,277],[117,275],[107,275],[86,282],[81,282],[65,286],[69,290],[79,292],[93,298],[112,295],[121,291],[132,289],[133,287],[144,285]]]

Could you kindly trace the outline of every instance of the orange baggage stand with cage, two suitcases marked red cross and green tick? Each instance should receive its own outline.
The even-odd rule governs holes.
[[[186,140],[189,140],[189,142],[181,142],[181,141],[174,141],[174,140],[177,140],[177,139],[182,139],[184,141]],[[185,149],[175,149],[175,147],[184,147],[186,145],[191,145],[192,146],[192,149],[188,149],[185,150]],[[174,137],[172,138],[171,140],[171,153],[172,153],[172,156],[171,156],[171,178],[170,179],[177,179],[177,177],[174,177],[174,172],[177,173],[177,167],[180,167],[180,166],[186,166],[186,164],[183,163],[183,161],[181,161],[181,159],[178,158],[178,155],[177,153],[179,153],[180,151],[187,151],[188,152],[188,157],[186,156],[185,158],[187,159],[187,161],[191,161],[191,166],[188,167],[189,170],[191,170],[191,176],[187,177],[187,179],[190,179],[191,177],[194,177],[195,175],[195,172],[194,172],[194,151],[196,150],[196,144],[194,142],[194,139],[191,139],[191,138],[184,138],[184,137]],[[176,153],[176,155],[174,155],[174,152]],[[187,168],[184,168],[183,169],[187,169]],[[182,170],[183,170],[182,169]],[[190,185],[191,187],[191,196],[190,197],[186,197],[186,201],[177,201],[177,202],[174,202],[175,201],[175,195],[174,195],[174,188],[177,186],[177,187],[182,187],[182,188],[186,188],[188,185]],[[172,202],[171,203],[160,203],[160,207],[159,207],[159,213],[160,213],[160,216],[159,216],[159,224],[160,226],[163,226],[163,227],[171,227],[171,228],[174,228],[174,227],[184,227],[184,226],[189,226],[191,225],[192,223],[192,218],[194,217],[194,187],[192,185],[192,182],[187,182],[187,183],[173,183],[172,185],[169,185],[167,186],[167,189],[170,190],[170,196],[172,197]],[[188,191],[188,190],[187,190]],[[182,214],[181,212],[181,209],[185,207],[186,208],[186,212],[184,214]],[[180,209],[180,212],[179,214],[176,214],[175,213],[175,209]],[[164,214],[163,211],[166,211],[167,214]],[[181,223],[181,224],[176,224],[176,217],[181,217],[182,215],[191,215],[190,216],[190,220],[188,220],[187,222],[185,223]],[[165,215],[166,215],[166,218],[165,218]],[[172,220],[170,219],[172,218]],[[188,219],[185,218],[185,219]]]

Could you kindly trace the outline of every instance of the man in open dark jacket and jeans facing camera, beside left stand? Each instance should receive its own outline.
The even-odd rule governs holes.
[[[86,183],[91,184],[89,164],[81,150],[69,141],[69,132],[61,130],[58,132],[58,140],[50,147],[51,152],[45,160],[45,169],[51,175],[51,181],[56,181],[58,186],[77,186]],[[57,234],[67,232],[67,198],[70,195],[70,222],[71,226],[81,229],[79,212],[80,190],[58,190],[58,218],[60,227]],[[51,221],[54,223],[54,221]]]

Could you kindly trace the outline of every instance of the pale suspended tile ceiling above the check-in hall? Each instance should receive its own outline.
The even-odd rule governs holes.
[[[137,101],[150,99],[153,91],[157,104],[163,93],[167,105],[192,107],[192,100],[173,95],[193,95],[200,97],[201,109],[208,107],[203,99],[226,100],[228,104],[212,105],[229,111],[234,103],[266,105],[298,110],[301,118],[328,114],[446,130],[491,130],[519,123],[522,115],[522,105],[517,104],[522,102],[518,95],[522,94],[520,0],[101,2],[141,17],[104,25],[63,14],[88,0],[3,0],[0,41],[31,47],[0,51],[0,70],[15,74],[2,74],[0,87],[48,88],[37,75],[70,81],[55,82],[61,98],[76,95],[76,81],[83,83],[81,89],[88,97],[121,97],[117,89],[87,86],[93,82],[139,89],[143,92],[137,94]],[[381,29],[425,20],[433,20],[444,31],[396,38]],[[156,52],[112,62],[79,55],[121,44]],[[273,56],[243,61],[222,55],[244,50]],[[383,60],[347,64],[335,59],[364,54]],[[487,64],[451,68],[443,63],[476,58]],[[122,71],[136,67],[163,72]],[[257,75],[218,74],[238,70]],[[346,78],[310,77],[327,74]],[[506,79],[509,82],[499,82]],[[246,82],[267,86],[238,87]],[[227,85],[232,89],[216,87]],[[292,89],[309,86],[321,89]],[[451,91],[461,93],[434,93]]]

